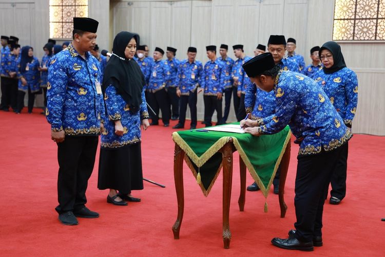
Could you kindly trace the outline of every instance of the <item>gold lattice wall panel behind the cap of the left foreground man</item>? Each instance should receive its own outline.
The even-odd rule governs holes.
[[[88,0],[49,0],[49,37],[71,39],[73,17],[88,17]]]

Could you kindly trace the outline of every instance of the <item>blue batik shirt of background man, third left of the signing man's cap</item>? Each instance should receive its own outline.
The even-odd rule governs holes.
[[[223,93],[225,70],[224,65],[217,58],[210,60],[204,65],[204,95],[216,96],[217,93]]]

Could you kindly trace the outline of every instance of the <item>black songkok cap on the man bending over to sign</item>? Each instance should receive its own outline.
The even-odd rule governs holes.
[[[265,52],[259,56],[248,60],[242,65],[243,70],[249,78],[255,78],[261,75],[264,71],[275,67],[274,59],[271,53]]]

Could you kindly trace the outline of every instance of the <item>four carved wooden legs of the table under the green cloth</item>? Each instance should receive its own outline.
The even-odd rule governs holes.
[[[285,217],[287,206],[283,199],[285,181],[287,175],[287,169],[290,162],[290,141],[286,145],[285,153],[281,159],[281,173],[279,177],[279,206],[281,208],[281,218]],[[223,145],[219,150],[222,153],[222,167],[223,167],[223,246],[225,249],[230,247],[230,240],[232,234],[229,227],[229,212],[230,212],[230,198],[232,192],[233,181],[233,153],[236,151],[233,145],[233,139]],[[179,239],[179,231],[182,225],[183,211],[184,211],[184,190],[183,190],[183,159],[185,152],[180,146],[175,144],[174,152],[174,180],[175,189],[177,191],[178,199],[178,217],[175,224],[172,226],[172,232],[174,233],[174,239]],[[246,166],[242,158],[239,158],[239,168],[241,177],[241,193],[238,199],[239,210],[243,211],[245,206],[246,196]]]

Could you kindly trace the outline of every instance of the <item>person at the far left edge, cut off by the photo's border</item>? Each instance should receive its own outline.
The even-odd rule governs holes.
[[[0,75],[1,75],[1,90],[2,90],[2,100],[0,103],[0,109],[2,109],[5,112],[9,111],[9,101],[10,99],[8,98],[8,84],[9,84],[9,74],[6,73],[5,71],[5,66],[8,64],[8,57],[11,52],[11,50],[8,47],[8,40],[9,37],[6,35],[1,36],[1,44],[2,44],[2,49],[1,49],[1,66],[0,66]]]

